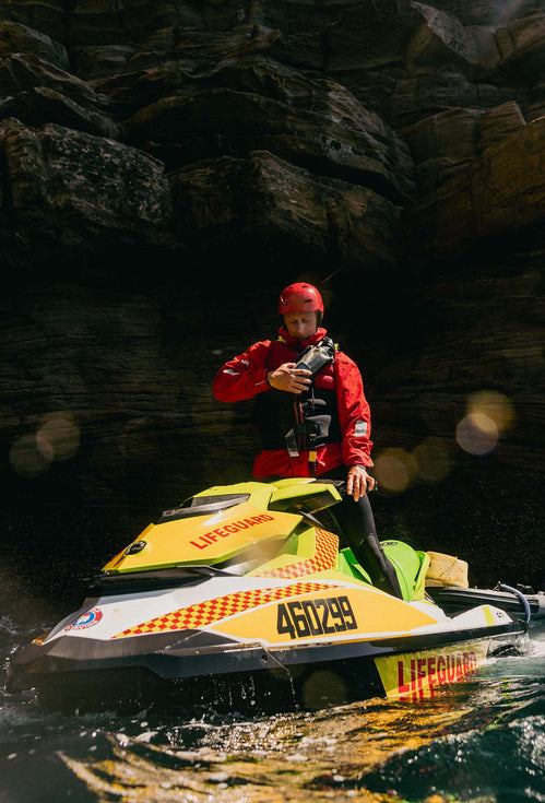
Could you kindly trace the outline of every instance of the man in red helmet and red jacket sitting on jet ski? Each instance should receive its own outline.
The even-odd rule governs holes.
[[[335,512],[351,548],[375,584],[401,597],[367,498],[375,486],[367,472],[372,467],[372,441],[359,369],[321,327],[323,302],[313,285],[287,286],[280,296],[279,315],[284,324],[277,339],[254,343],[225,363],[214,378],[214,395],[225,402],[256,400],[262,444],[253,462],[257,480],[346,481],[346,496]]]

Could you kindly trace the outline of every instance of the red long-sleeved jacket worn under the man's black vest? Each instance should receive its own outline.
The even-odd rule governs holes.
[[[254,343],[246,352],[225,363],[213,382],[214,397],[218,401],[238,402],[270,392],[266,373],[283,363],[296,362],[298,354],[308,345],[319,342],[327,331],[319,328],[305,341],[294,340],[284,328],[279,334],[277,340]],[[287,448],[264,449],[253,463],[252,474],[257,480],[272,476],[311,476],[312,473],[318,476],[343,463],[372,465],[369,404],[364,394],[362,376],[354,361],[343,352],[336,351],[333,364],[323,368],[315,377],[313,383],[317,389],[334,391],[336,395],[341,441],[328,442],[316,449],[315,471],[309,464],[308,451],[291,457]]]

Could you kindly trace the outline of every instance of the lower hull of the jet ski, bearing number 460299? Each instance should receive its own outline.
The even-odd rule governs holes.
[[[218,595],[203,601],[208,606],[214,600],[225,600],[233,581],[209,580],[209,591],[211,582]],[[307,583],[298,597],[289,591],[291,584],[279,584],[273,587],[277,599],[288,600],[291,607],[282,601],[268,600],[224,618],[220,614],[220,618],[200,629],[176,629],[181,618],[178,609],[176,626],[170,614],[170,619],[149,621],[153,626],[126,627],[117,634],[118,625],[108,628],[106,624],[109,609],[118,613],[125,609],[133,623],[139,618],[133,597],[88,599],[74,617],[60,623],[43,642],[38,639],[17,653],[11,666],[9,690],[35,687],[47,705],[72,710],[150,701],[170,706],[174,698],[177,705],[235,704],[249,705],[251,710],[270,710],[286,706],[315,708],[377,694],[424,696],[460,681],[495,652],[516,647],[525,633],[522,623],[489,606],[454,618],[442,614],[434,618],[429,615],[436,614],[434,605],[401,600],[391,600],[389,624],[383,618],[374,631],[365,625],[369,627],[375,618],[366,618],[363,610],[391,598],[348,583],[328,583],[327,590],[323,583],[315,584],[317,590]],[[254,581],[253,586],[253,598],[257,591],[270,593],[269,583],[264,588]],[[194,588],[185,593],[194,598]],[[165,598],[177,599],[179,604],[180,590],[165,589],[157,595],[163,607]],[[341,616],[332,616],[339,600],[347,601],[345,624],[353,624],[352,614],[354,623],[362,622],[364,626],[312,637],[308,625],[313,624],[315,630],[321,626],[316,612],[321,610],[322,600],[328,601],[327,622],[333,629],[335,623],[342,627]],[[138,603],[150,611],[154,598],[142,594]],[[173,602],[166,607],[171,605]],[[292,633],[284,619],[287,615],[299,616],[298,622],[292,619],[298,631]],[[413,624],[416,623],[412,629],[394,626],[402,619],[406,626],[412,616]],[[260,627],[256,625],[258,621]],[[380,629],[384,625],[387,629]],[[97,637],[90,635],[93,629]],[[133,633],[135,629],[147,631]],[[261,637],[240,636],[248,629],[259,631]]]

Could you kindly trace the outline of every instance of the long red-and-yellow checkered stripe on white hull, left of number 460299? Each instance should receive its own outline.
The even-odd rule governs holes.
[[[211,623],[220,622],[227,616],[234,616],[249,609],[265,605],[268,602],[274,602],[286,597],[298,597],[299,594],[307,594],[311,591],[321,591],[327,588],[331,588],[331,586],[320,582],[297,582],[293,586],[282,586],[280,588],[238,591],[235,594],[216,597],[213,600],[205,600],[197,605],[189,605],[189,607],[182,607],[179,611],[171,611],[164,616],[157,616],[149,622],[143,622],[141,625],[137,625],[137,627],[129,627],[112,638],[140,636],[142,634],[159,633],[162,630],[198,629]]]

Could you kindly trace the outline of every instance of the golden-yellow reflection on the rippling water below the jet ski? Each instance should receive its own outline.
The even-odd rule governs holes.
[[[420,706],[375,698],[251,720],[209,711],[167,723],[143,715],[102,730],[84,757],[59,756],[98,800],[399,801],[400,768],[439,760],[452,752],[450,740],[474,729],[474,695],[470,684]]]

